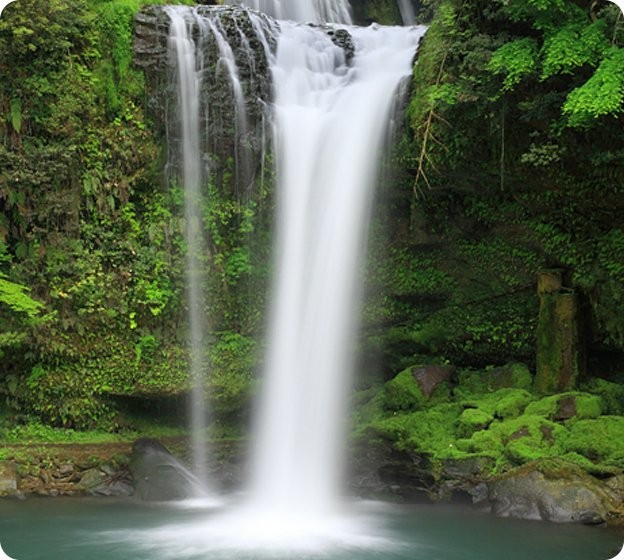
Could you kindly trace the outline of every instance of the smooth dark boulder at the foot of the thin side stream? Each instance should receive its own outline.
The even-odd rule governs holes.
[[[201,482],[154,439],[134,443],[130,470],[136,495],[142,500],[183,500],[201,491]]]

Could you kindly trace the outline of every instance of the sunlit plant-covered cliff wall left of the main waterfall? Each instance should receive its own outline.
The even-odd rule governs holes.
[[[0,19],[0,410],[16,421],[127,430],[128,398],[158,415],[187,390],[182,193],[131,64],[147,3],[162,1],[24,0]],[[249,254],[257,202],[210,190],[206,361],[231,414],[263,305],[248,309],[244,279],[263,252]]]

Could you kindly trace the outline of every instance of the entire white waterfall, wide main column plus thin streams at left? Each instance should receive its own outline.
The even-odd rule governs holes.
[[[209,532],[215,537],[218,531],[223,538],[228,531],[233,537],[243,531],[264,542],[267,534],[283,535],[284,523],[290,522],[300,541],[307,535],[306,526],[324,533],[327,520],[342,504],[346,400],[361,290],[358,270],[395,92],[411,73],[424,28],[348,25],[346,1],[246,4],[277,17],[346,22],[318,27],[276,22],[245,7],[166,8],[180,121],[178,163],[171,165],[178,167],[186,189],[190,322],[193,332],[200,330],[191,337],[194,362],[201,363],[201,349],[195,345],[205,340],[205,319],[193,315],[194,309],[205,309],[201,288],[195,285],[201,274],[193,270],[199,269],[195,259],[203,250],[197,208],[209,204],[200,192],[210,171],[210,140],[202,134],[209,128],[211,99],[200,95],[209,67],[206,42],[218,51],[210,68],[220,68],[230,84],[235,135],[247,134],[250,103],[264,108],[278,182],[274,304],[245,507],[252,513],[237,510],[233,525],[227,524],[230,529],[213,520],[214,531]],[[221,23],[224,10],[232,9],[250,23],[237,28],[236,48],[230,47]],[[227,27],[231,33],[231,25]],[[262,48],[254,53],[252,42]],[[241,51],[247,62],[241,63]],[[272,92],[266,99],[250,99],[249,88],[243,93],[241,74],[263,65],[270,70]],[[235,140],[234,150],[236,146]],[[200,387],[193,399],[199,410],[194,424],[201,433],[196,440],[205,434],[197,419],[204,416],[201,375],[194,374]],[[200,449],[197,456],[202,454]],[[242,518],[249,521],[241,529]],[[276,519],[276,525],[263,523],[269,519]]]

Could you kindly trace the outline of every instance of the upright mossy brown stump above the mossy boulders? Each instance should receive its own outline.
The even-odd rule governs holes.
[[[560,270],[540,272],[537,292],[535,389],[543,394],[569,391],[584,369],[577,296],[563,287]]]

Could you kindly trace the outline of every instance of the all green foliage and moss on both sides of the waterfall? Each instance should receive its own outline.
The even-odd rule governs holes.
[[[0,18],[3,441],[181,433],[183,195],[131,63],[146,3],[160,2],[20,0]],[[354,8],[398,18],[395,3]],[[371,227],[356,435],[426,457],[440,477],[474,458],[486,473],[553,456],[621,471],[624,18],[571,0],[432,0],[426,15]],[[266,162],[239,196],[234,163],[219,166],[202,209],[205,359],[212,433],[236,437],[262,350],[272,176]],[[590,374],[546,397],[533,393],[545,267],[580,298]],[[510,361],[528,368],[501,386],[490,366]],[[426,397],[415,363],[461,369]]]

